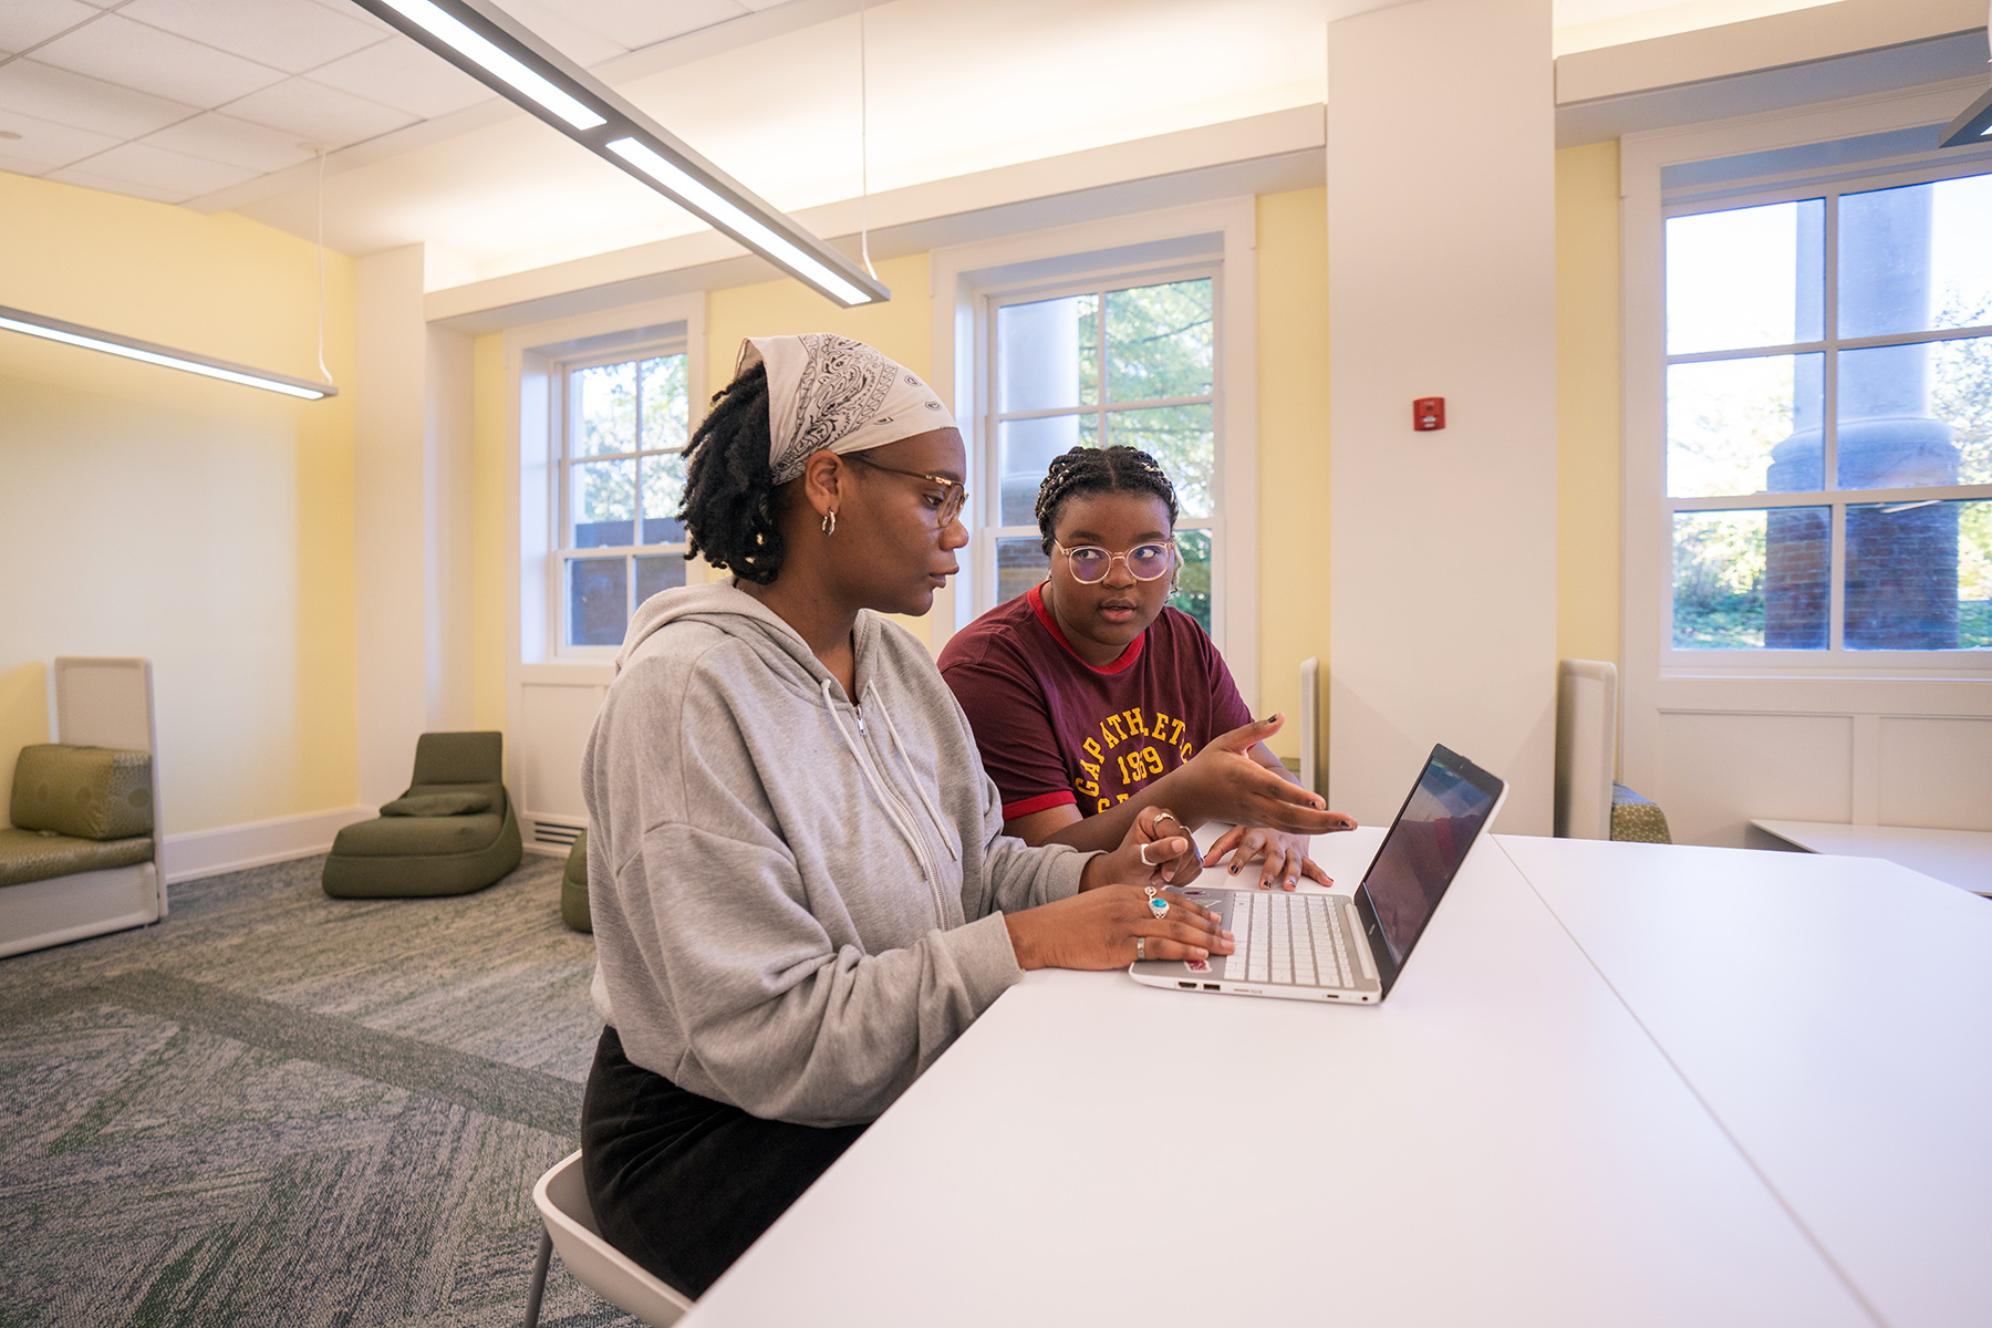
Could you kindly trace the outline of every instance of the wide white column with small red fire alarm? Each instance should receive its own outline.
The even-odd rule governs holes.
[[[1554,145],[1550,0],[1329,24],[1327,792],[1365,822],[1444,743],[1550,832]]]

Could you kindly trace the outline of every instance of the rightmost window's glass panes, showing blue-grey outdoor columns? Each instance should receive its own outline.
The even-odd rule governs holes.
[[[1669,209],[1665,647],[1992,649],[1988,235],[1986,173]]]

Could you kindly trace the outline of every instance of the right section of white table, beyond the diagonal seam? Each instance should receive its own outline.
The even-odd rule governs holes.
[[[1992,904],[1872,858],[1500,846],[1880,1322],[1992,1322]]]

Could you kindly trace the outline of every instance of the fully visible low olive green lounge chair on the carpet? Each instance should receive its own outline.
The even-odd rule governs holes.
[[[518,812],[504,790],[502,733],[424,733],[408,792],[347,826],[325,858],[341,900],[470,894],[518,866]]]

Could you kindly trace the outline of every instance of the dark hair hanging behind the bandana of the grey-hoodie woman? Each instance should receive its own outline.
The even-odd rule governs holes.
[[[767,366],[755,364],[713,394],[685,448],[685,550],[719,569],[769,585],[781,573],[779,486],[769,464]]]

